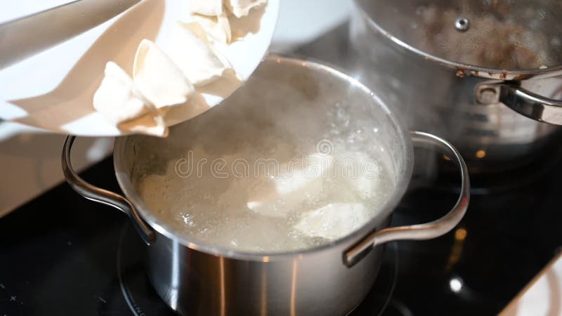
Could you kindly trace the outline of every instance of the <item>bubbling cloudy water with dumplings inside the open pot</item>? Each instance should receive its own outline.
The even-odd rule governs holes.
[[[319,116],[289,101],[261,112],[240,101],[172,130],[173,154],[162,156],[175,158],[137,181],[145,205],[176,235],[267,254],[327,244],[367,223],[396,186],[378,128],[348,105]]]

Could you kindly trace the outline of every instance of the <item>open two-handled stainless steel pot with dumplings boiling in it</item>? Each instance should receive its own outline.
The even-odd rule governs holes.
[[[185,143],[185,129],[209,121],[218,124],[217,115],[220,117],[221,111],[231,106],[240,109],[237,112],[247,111],[242,113],[246,115],[263,114],[260,111],[282,108],[287,103],[318,113],[346,103],[353,114],[350,124],[368,124],[366,127],[376,131],[391,150],[396,189],[384,209],[358,231],[314,249],[251,254],[178,235],[145,206],[135,190],[135,181],[148,164],[157,168],[164,163],[164,157],[155,153]],[[294,119],[301,118],[295,115]],[[452,210],[438,220],[388,228],[391,213],[412,174],[412,140],[414,145],[437,147],[459,166],[461,195]],[[152,285],[173,310],[183,315],[344,315],[372,287],[383,244],[443,235],[459,223],[469,204],[468,170],[450,143],[426,133],[408,133],[388,107],[358,81],[325,65],[292,58],[267,58],[225,103],[174,126],[169,138],[117,138],[115,174],[125,197],[94,187],[77,175],[70,163],[73,141],[74,137],[67,138],[62,157],[68,183],[87,199],[114,206],[133,220],[148,244],[147,272]]]

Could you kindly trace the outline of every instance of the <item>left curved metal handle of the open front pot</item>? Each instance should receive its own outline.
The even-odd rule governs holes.
[[[72,150],[72,144],[76,136],[67,136],[65,140],[65,145],[63,147],[63,155],[61,158],[61,162],[63,164],[63,173],[65,175],[67,183],[72,187],[72,189],[78,192],[79,195],[85,197],[86,199],[90,199],[95,202],[99,202],[101,204],[106,204],[109,206],[113,206],[119,211],[126,213],[131,220],[133,220],[133,224],[141,234],[144,242],[146,244],[151,244],[154,242],[155,239],[155,232],[148,226],[147,223],[141,218],[136,210],[135,206],[129,202],[128,199],[123,197],[122,195],[118,195],[117,193],[110,192],[107,190],[103,190],[99,187],[95,187],[86,181],[82,180],[80,176],[72,169],[72,162],[70,162],[70,150]]]

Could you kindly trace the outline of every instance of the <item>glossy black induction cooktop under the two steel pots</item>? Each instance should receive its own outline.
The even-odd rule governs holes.
[[[449,234],[388,244],[351,315],[497,314],[562,244],[559,157],[516,188],[473,196]],[[111,159],[82,176],[119,192]],[[454,188],[416,187],[393,225],[433,220],[457,199]],[[148,282],[144,251],[123,213],[61,184],[0,218],[0,316],[174,315]]]

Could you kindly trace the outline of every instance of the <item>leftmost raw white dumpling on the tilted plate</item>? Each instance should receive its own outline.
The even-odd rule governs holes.
[[[105,65],[105,77],[93,95],[93,107],[116,125],[149,111],[148,102],[133,84],[133,79],[115,62]]]

